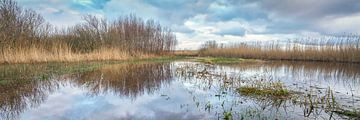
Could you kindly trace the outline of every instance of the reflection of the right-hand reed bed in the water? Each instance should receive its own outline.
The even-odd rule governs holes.
[[[226,68],[226,67],[225,67]],[[243,76],[264,74],[304,90],[333,88],[343,94],[360,95],[360,65],[322,62],[264,62],[230,65]]]

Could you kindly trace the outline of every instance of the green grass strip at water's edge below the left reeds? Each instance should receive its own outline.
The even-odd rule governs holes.
[[[38,64],[0,65],[0,85],[15,84],[29,80],[48,80],[51,76],[89,72],[105,65],[159,63],[186,59],[185,57],[166,56],[146,59],[131,59],[103,62],[50,62]]]

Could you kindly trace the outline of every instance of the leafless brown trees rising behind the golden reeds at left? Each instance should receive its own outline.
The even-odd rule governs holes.
[[[112,21],[85,15],[83,23],[58,29],[14,0],[0,2],[0,55],[29,48],[41,48],[48,53],[66,49],[63,51],[81,54],[115,48],[131,55],[162,54],[174,50],[177,44],[169,28],[134,14]]]

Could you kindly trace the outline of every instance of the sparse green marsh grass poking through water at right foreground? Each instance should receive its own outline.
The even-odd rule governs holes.
[[[276,111],[284,112],[288,109],[297,109],[304,118],[330,117],[330,119],[359,119],[359,112],[352,106],[347,106],[346,101],[339,101],[336,98],[341,93],[334,93],[330,87],[328,89],[310,87],[310,89],[294,88],[294,86],[286,86],[281,81],[274,81],[274,78],[268,73],[256,74],[250,77],[236,77],[232,75],[222,74],[213,70],[214,66],[209,64],[183,64],[176,69],[176,75],[190,80],[191,78],[200,79],[202,83],[208,84],[204,89],[211,87],[211,83],[219,81],[219,90],[215,93],[215,97],[222,96],[222,92],[237,92],[241,99],[254,101],[261,108],[250,111],[241,112],[240,119],[269,119],[266,114],[261,112]],[[224,102],[223,102],[224,104]],[[198,103],[197,103],[198,106]],[[205,110],[212,108],[210,102],[205,104]],[[229,113],[228,113],[229,112]],[[232,111],[222,113],[222,118],[228,118]],[[280,113],[280,115],[283,113]],[[284,113],[288,114],[288,113]],[[270,117],[272,118],[272,117]]]

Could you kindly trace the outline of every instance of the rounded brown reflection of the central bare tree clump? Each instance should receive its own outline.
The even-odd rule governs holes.
[[[132,97],[153,93],[172,78],[170,64],[119,64],[70,76],[73,83],[90,94],[117,94]]]

